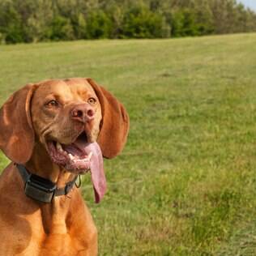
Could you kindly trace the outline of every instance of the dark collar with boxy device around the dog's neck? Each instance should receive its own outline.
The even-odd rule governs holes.
[[[22,164],[15,165],[25,183],[25,194],[29,198],[42,203],[51,203],[54,196],[68,194],[75,185],[75,181],[78,177],[75,176],[72,181],[67,182],[65,187],[58,188],[52,181],[45,179],[44,177],[37,176],[36,174],[29,173]]]

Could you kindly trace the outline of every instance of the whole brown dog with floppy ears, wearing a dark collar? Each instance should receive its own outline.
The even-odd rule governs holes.
[[[12,161],[0,178],[0,255],[96,255],[96,227],[75,178],[89,170],[99,202],[102,156],[122,151],[128,129],[126,110],[92,79],[15,92],[0,109],[0,148]]]

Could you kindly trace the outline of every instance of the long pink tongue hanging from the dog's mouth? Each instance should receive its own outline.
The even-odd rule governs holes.
[[[89,155],[92,152],[92,157],[90,160],[90,169],[92,184],[95,194],[95,202],[99,203],[101,198],[103,198],[106,191],[106,178],[103,169],[103,157],[98,143],[75,143],[77,147]]]

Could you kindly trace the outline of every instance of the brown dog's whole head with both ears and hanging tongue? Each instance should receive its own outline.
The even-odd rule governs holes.
[[[96,201],[105,192],[102,156],[122,151],[128,129],[122,104],[92,79],[28,84],[0,109],[0,148],[8,158],[25,164],[40,143],[49,159],[67,171],[91,170]]]

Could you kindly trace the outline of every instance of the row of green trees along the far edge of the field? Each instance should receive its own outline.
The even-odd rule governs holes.
[[[236,0],[1,0],[0,42],[256,32]]]

